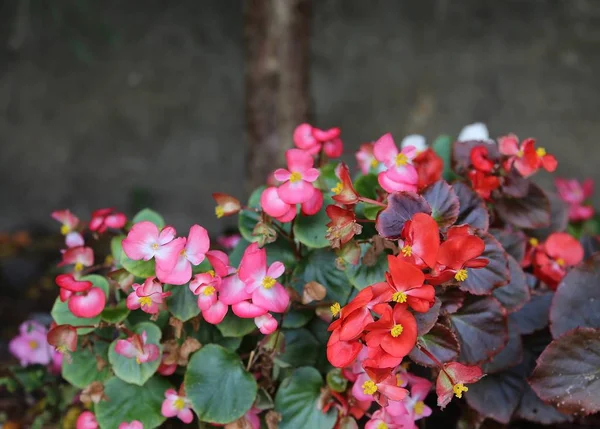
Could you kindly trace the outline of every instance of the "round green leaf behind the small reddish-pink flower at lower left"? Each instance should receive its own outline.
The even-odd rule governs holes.
[[[162,354],[162,346],[160,345],[162,333],[158,326],[143,322],[134,326],[133,331],[137,334],[146,331],[148,336],[146,344],[158,345],[160,354]],[[115,351],[117,341],[118,339],[113,341],[108,350],[108,361],[112,365],[115,375],[127,383],[143,386],[160,366],[160,357],[152,362],[137,363],[135,359],[126,358]]]

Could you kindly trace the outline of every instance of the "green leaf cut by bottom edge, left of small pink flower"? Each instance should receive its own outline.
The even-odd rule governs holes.
[[[95,406],[96,419],[101,428],[117,428],[122,422],[139,420],[145,429],[158,427],[165,421],[160,408],[165,391],[172,388],[162,377],[152,377],[144,386],[127,384],[117,377],[104,383],[108,401]]]

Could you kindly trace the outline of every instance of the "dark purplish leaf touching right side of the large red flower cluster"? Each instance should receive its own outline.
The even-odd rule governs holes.
[[[490,233],[477,231],[485,243],[481,257],[489,263],[483,268],[467,268],[468,277],[460,282],[460,289],[473,295],[489,295],[494,288],[508,284],[508,258],[502,245]]]

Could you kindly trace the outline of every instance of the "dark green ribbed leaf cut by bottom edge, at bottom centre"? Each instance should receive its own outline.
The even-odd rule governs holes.
[[[337,412],[332,407],[327,413],[319,404],[323,379],[315,368],[295,370],[281,384],[275,396],[275,411],[281,414],[279,429],[331,429]]]

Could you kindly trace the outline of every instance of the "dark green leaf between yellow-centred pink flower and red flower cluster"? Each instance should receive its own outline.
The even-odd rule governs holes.
[[[335,254],[328,249],[310,252],[302,259],[293,272],[293,284],[298,293],[310,281],[321,283],[327,289],[326,299],[344,305],[352,286],[344,271],[335,266]]]

